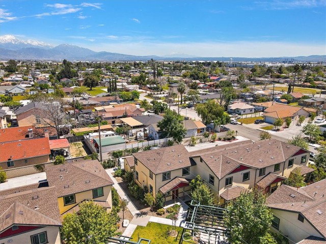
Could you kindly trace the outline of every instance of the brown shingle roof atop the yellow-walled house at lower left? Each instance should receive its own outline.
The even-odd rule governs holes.
[[[57,188],[57,197],[114,184],[97,160],[46,165],[45,172],[49,186]]]

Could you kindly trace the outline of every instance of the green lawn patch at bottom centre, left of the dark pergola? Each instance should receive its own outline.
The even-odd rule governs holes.
[[[150,239],[151,243],[155,244],[178,244],[181,236],[182,228],[176,227],[176,231],[179,231],[178,240],[175,236],[170,236],[168,232],[172,229],[171,225],[163,225],[154,222],[148,222],[147,226],[137,226],[134,230],[131,240],[138,241],[138,235],[140,238]],[[187,242],[195,243],[195,241]]]

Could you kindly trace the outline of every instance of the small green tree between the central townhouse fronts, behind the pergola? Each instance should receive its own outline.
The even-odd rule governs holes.
[[[214,195],[208,184],[197,175],[189,184],[192,187],[191,196],[194,200],[199,201],[202,205],[212,205]]]

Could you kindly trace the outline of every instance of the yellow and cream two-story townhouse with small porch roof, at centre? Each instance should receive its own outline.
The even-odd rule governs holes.
[[[148,187],[154,197],[161,193],[169,201],[189,194],[195,163],[183,145],[142,151],[133,157],[135,182]]]

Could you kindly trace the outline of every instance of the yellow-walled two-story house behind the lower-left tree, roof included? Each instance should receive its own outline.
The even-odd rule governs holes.
[[[56,187],[61,215],[77,211],[87,200],[112,210],[113,181],[97,160],[46,165],[45,172],[49,186]]]

